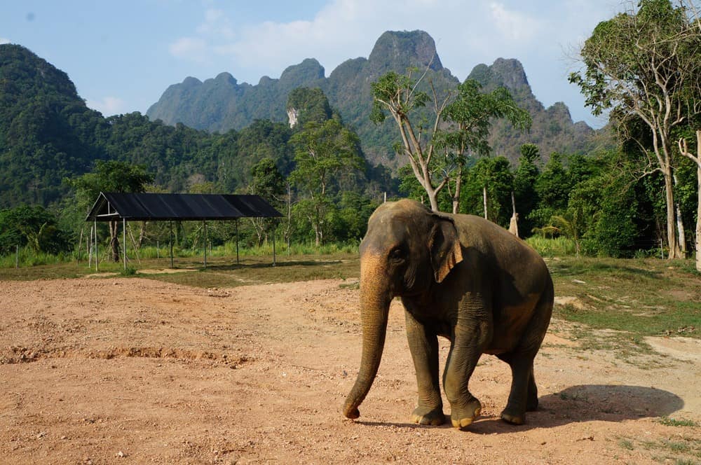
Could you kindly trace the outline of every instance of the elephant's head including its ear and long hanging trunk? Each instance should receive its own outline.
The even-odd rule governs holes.
[[[462,261],[458,231],[448,216],[412,200],[387,202],[374,211],[360,244],[362,360],[343,414],[358,418],[380,366],[390,302],[440,283]]]

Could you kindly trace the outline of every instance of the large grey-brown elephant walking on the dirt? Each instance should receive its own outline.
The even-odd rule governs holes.
[[[509,364],[511,391],[501,419],[523,424],[538,407],[533,359],[550,324],[554,291],[536,251],[479,216],[435,213],[414,200],[381,204],[360,244],[362,356],[343,414],[360,417],[382,357],[390,302],[404,305],[416,370],[418,405],[411,420],[445,422],[438,336],[450,341],[443,389],[451,423],[464,430],[482,404],[468,382],[482,354]]]

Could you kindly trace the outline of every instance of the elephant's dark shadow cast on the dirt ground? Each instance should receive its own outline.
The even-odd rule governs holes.
[[[477,434],[493,434],[551,428],[578,422],[622,422],[642,417],[665,417],[672,415],[683,406],[684,401],[676,394],[654,387],[585,384],[541,396],[538,410],[526,413],[526,424],[520,426],[507,424],[501,421],[500,409],[484,409],[482,416],[469,426],[468,431]],[[416,428],[435,427],[408,423],[393,423],[393,425]],[[452,427],[449,417],[442,427]]]

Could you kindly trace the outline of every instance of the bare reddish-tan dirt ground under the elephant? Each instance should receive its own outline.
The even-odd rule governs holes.
[[[524,426],[499,419],[510,373],[491,356],[470,381],[484,408],[469,431],[418,426],[397,301],[361,417],[345,419],[360,316],[359,291],[342,284],[0,282],[0,463],[701,461],[701,428],[660,422],[701,421],[700,341],[651,339],[658,354],[630,363],[578,348],[554,320],[536,359],[541,408]]]

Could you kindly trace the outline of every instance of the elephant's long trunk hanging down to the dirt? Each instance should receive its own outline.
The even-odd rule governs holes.
[[[392,295],[382,265],[374,257],[360,261],[360,319],[362,320],[362,359],[358,377],[343,405],[343,415],[358,418],[358,405],[367,396],[382,359]]]

